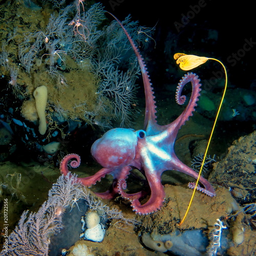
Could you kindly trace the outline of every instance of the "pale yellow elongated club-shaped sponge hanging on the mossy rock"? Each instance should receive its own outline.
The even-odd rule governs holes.
[[[46,103],[47,103],[47,87],[39,86],[33,93],[35,97],[36,111],[39,117],[39,133],[44,135],[46,133]]]

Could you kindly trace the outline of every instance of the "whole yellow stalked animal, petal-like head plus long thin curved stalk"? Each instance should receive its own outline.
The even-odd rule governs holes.
[[[185,220],[185,218],[186,218],[186,216],[188,214],[189,208],[190,208],[191,203],[193,201],[193,198],[195,196],[197,185],[199,183],[199,178],[200,178],[200,175],[202,173],[202,169],[203,169],[203,166],[204,166],[204,163],[205,163],[205,158],[206,158],[206,155],[207,155],[207,152],[208,152],[208,149],[209,149],[209,145],[210,145],[210,141],[211,141],[211,138],[212,138],[212,134],[214,133],[214,129],[215,129],[215,126],[216,126],[216,123],[217,123],[217,119],[218,119],[219,114],[220,114],[221,106],[222,106],[222,103],[223,103],[223,100],[224,100],[224,96],[225,96],[225,93],[226,93],[226,89],[227,89],[227,71],[226,71],[226,68],[223,65],[223,63],[220,60],[215,59],[215,58],[200,57],[200,56],[196,56],[196,55],[187,55],[185,53],[175,53],[174,54],[174,59],[176,60],[176,63],[178,65],[180,65],[180,68],[182,70],[185,70],[185,71],[197,68],[198,66],[202,65],[203,63],[205,63],[208,59],[216,60],[216,61],[218,61],[222,65],[222,67],[224,69],[224,72],[225,72],[225,87],[224,87],[224,91],[223,91],[223,94],[222,94],[222,98],[221,98],[221,102],[220,102],[220,105],[219,105],[219,109],[218,109],[216,117],[215,117],[214,125],[212,126],[212,130],[211,130],[210,137],[209,137],[209,140],[208,140],[208,143],[207,143],[207,146],[206,146],[206,150],[205,150],[205,153],[204,153],[204,158],[203,158],[203,161],[202,161],[202,164],[201,164],[201,168],[200,168],[200,171],[199,171],[198,179],[197,179],[197,182],[196,182],[193,194],[191,196],[191,199],[190,199],[190,202],[188,204],[188,207],[187,207],[187,210],[185,212],[185,215],[184,215],[182,221],[180,222],[180,225],[181,225],[184,222],[184,220]]]

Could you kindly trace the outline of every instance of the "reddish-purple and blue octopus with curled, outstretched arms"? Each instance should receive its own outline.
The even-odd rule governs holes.
[[[195,179],[198,178],[198,173],[178,159],[174,152],[174,143],[180,127],[195,111],[200,96],[201,84],[197,75],[187,73],[180,80],[176,91],[176,102],[183,104],[186,97],[181,95],[182,89],[185,84],[191,82],[192,93],[185,110],[172,123],[159,125],[156,121],[155,96],[143,58],[130,35],[119,20],[117,21],[132,45],[142,73],[146,98],[144,130],[115,128],[106,132],[93,143],[91,148],[92,156],[103,168],[93,176],[78,178],[78,181],[90,187],[106,174],[111,174],[114,179],[110,190],[96,194],[105,199],[111,199],[115,194],[120,194],[121,197],[131,201],[133,210],[137,214],[149,214],[160,209],[164,201],[165,194],[161,184],[161,174],[165,170],[178,170]],[[73,158],[75,160],[71,161],[71,166],[79,166],[80,157],[76,154],[69,154],[60,163],[61,173],[65,175],[69,173],[68,162]],[[127,194],[124,191],[127,188],[126,178],[133,168],[137,168],[145,175],[151,189],[150,199],[142,205],[139,201],[143,195],[142,191],[135,194]],[[206,179],[200,177],[199,181],[204,188],[198,186],[198,190],[210,197],[216,195],[214,188]],[[195,183],[189,183],[188,186],[193,188]]]

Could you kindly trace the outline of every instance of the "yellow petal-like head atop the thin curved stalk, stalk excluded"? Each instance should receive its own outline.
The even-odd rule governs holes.
[[[180,65],[180,68],[182,70],[191,70],[194,69],[203,63],[205,63],[209,58],[207,57],[200,57],[196,55],[186,55],[184,53],[176,53],[174,55],[174,59],[176,60],[176,63]]]

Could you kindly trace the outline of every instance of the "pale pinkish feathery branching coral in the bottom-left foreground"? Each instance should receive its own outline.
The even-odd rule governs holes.
[[[24,211],[15,230],[10,234],[7,248],[3,248],[0,255],[48,255],[51,237],[62,228],[62,216],[67,207],[76,207],[75,203],[83,199],[92,210],[101,212],[105,218],[133,225],[135,220],[126,219],[122,212],[109,208],[95,197],[89,195],[83,185],[76,180],[76,176],[60,176],[48,194],[48,200],[42,204],[37,212]]]

